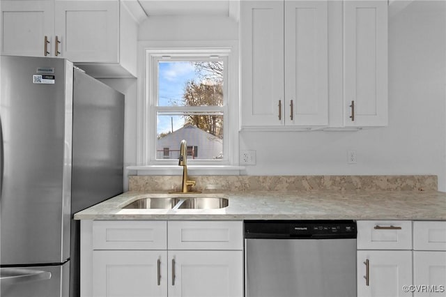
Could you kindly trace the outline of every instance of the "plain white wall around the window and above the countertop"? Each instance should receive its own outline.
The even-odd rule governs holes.
[[[129,6],[135,4],[132,2],[134,1],[130,1]],[[246,165],[241,174],[435,175],[438,176],[438,190],[445,191],[444,4],[440,1],[401,2],[391,1],[389,6],[388,125],[353,131],[241,130],[238,137],[233,139],[233,146],[239,147],[240,151],[254,150],[256,153],[256,165]],[[158,13],[156,10],[152,15],[149,12],[149,17],[143,15],[139,22],[136,34],[139,40],[136,49],[139,61],[142,59],[144,43],[152,40],[187,43],[217,39],[220,44],[225,41],[232,44],[233,40],[239,39],[239,22],[233,16],[237,13],[228,17],[227,11],[224,15],[212,16],[168,12],[167,14],[173,16],[166,16],[165,11],[162,12],[164,8],[158,9]],[[231,12],[236,10],[231,8]],[[203,22],[206,23],[205,27],[200,25]],[[138,65],[141,67],[141,63]],[[144,70],[135,70],[134,75],[141,77],[141,72],[144,73]],[[334,75],[331,78],[336,77],[338,76]],[[142,92],[139,86],[143,84],[135,78],[102,78],[102,81],[125,93],[125,167],[131,166],[130,172],[125,174],[160,175],[173,171],[178,179],[174,179],[172,183],[178,185],[180,167],[169,167],[164,171],[153,171],[150,167],[134,169],[135,165],[146,165],[143,162],[144,155],[141,155],[141,139],[144,138],[144,135],[141,136],[141,125],[144,125],[144,120],[140,116],[141,99],[138,99]],[[333,80],[329,79],[330,82]],[[339,98],[339,84],[332,84],[331,89],[329,85],[329,92],[334,94],[330,98]],[[332,109],[329,112],[333,112]],[[335,112],[330,119],[336,119],[337,114],[339,112]],[[356,151],[356,164],[348,164],[348,151]],[[238,159],[238,156],[234,158]],[[233,165],[238,165],[238,162]],[[220,175],[222,172],[231,172],[229,169],[213,169],[211,172],[206,170],[209,169],[194,169],[191,165],[190,175],[194,178],[201,174]],[[238,168],[235,170],[238,173]],[[124,178],[124,183],[125,189],[128,189],[127,178]]]

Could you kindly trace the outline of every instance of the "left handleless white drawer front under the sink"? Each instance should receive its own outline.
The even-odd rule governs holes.
[[[93,250],[165,250],[166,221],[94,221]]]

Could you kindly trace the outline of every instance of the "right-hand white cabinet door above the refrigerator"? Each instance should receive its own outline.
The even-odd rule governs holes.
[[[54,9],[59,56],[73,62],[118,62],[119,1],[56,0]]]

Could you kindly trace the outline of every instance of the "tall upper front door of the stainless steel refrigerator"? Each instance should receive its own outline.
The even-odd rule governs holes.
[[[1,265],[62,263],[70,257],[72,64],[1,56],[1,79]]]

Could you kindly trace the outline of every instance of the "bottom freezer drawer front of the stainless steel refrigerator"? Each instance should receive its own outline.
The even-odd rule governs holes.
[[[0,268],[1,297],[67,297],[70,264]]]

